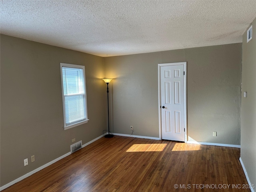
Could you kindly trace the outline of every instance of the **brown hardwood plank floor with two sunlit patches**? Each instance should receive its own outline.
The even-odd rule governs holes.
[[[239,157],[239,148],[101,138],[2,192],[250,192]]]

